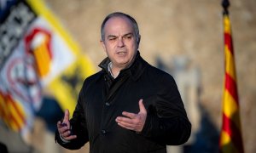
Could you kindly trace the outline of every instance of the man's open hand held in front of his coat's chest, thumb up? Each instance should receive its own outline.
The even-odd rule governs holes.
[[[143,105],[143,99],[139,100],[139,108],[140,111],[138,114],[123,111],[123,116],[118,116],[115,121],[120,127],[124,127],[136,132],[142,132],[147,118],[147,111]]]

